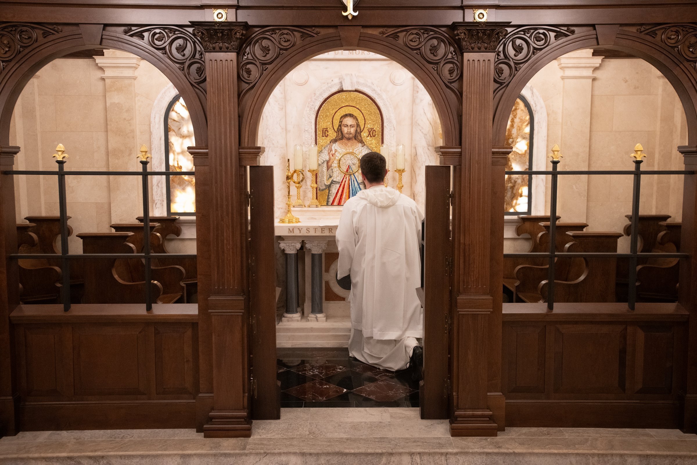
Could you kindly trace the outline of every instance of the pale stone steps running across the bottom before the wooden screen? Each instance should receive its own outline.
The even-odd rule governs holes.
[[[507,428],[451,438],[418,409],[282,409],[250,439],[194,429],[22,432],[0,439],[1,464],[695,465],[697,436],[676,429]]]

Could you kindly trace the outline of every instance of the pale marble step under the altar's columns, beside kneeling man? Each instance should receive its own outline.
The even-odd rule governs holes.
[[[351,318],[327,317],[326,321],[282,321],[276,325],[277,347],[348,347]]]

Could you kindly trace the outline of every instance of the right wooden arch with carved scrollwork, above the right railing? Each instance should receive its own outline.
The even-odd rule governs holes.
[[[650,24],[615,28],[611,37],[602,38],[602,47],[648,61],[671,82],[687,116],[688,144],[697,144],[697,25]],[[535,46],[537,31],[543,29],[554,32],[553,37],[548,36],[553,40],[542,41],[545,47]],[[523,39],[521,34],[527,39]],[[563,54],[599,47],[598,36],[598,31],[588,26],[576,30],[525,26],[510,31],[497,49],[496,63],[501,68],[496,69],[493,145],[504,144],[510,109],[530,79]],[[529,47],[533,48],[533,53],[529,52]],[[508,74],[510,70],[512,75]]]

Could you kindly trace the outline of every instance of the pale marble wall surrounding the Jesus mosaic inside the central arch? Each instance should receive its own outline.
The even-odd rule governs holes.
[[[385,145],[392,152],[397,144],[405,145],[402,192],[423,206],[424,167],[438,164],[434,148],[441,145],[442,140],[441,122],[431,97],[418,79],[399,63],[372,52],[339,50],[316,56],[291,70],[263,109],[257,142],[266,148],[262,164],[275,167],[277,218],[285,214],[286,160],[290,156],[292,167],[293,146],[303,146],[303,165],[307,168],[308,148],[314,144],[317,110],[332,93],[351,90],[367,93],[380,107]],[[390,158],[394,161],[393,154]],[[397,174],[391,172],[388,182],[394,187]],[[307,204],[312,197],[307,174],[300,192]],[[294,199],[294,185],[291,195]]]

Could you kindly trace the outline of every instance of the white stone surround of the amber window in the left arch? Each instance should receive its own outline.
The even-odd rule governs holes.
[[[153,102],[150,113],[150,153],[153,171],[165,171],[164,118],[172,99],[179,92],[173,84],[167,85]],[[153,216],[167,216],[167,183],[164,176],[153,176]]]

